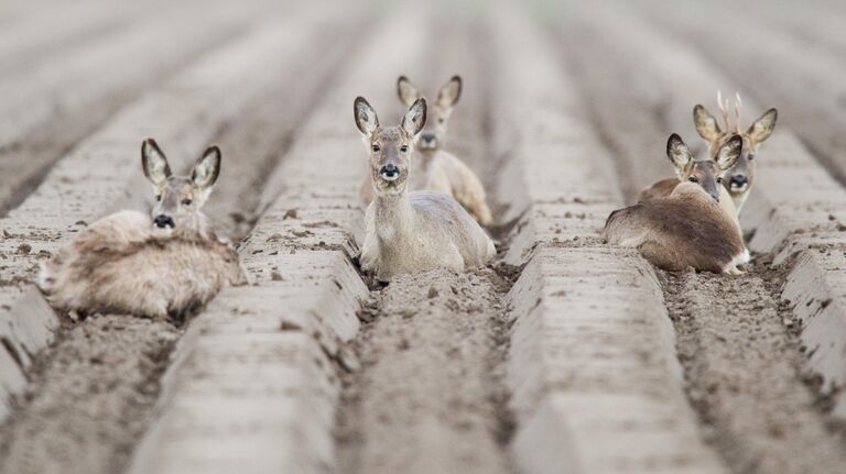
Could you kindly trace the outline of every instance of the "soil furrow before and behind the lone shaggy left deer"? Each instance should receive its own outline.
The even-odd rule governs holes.
[[[351,26],[336,30],[337,34],[351,31]],[[356,43],[350,41],[347,47]],[[326,51],[329,38],[311,44]],[[218,130],[225,161],[228,156],[234,166],[221,175],[206,205],[207,214],[235,242],[242,241],[258,220],[261,190],[270,187],[267,179],[288,153],[291,136],[308,117],[318,93],[332,81],[332,71],[346,64],[345,49],[329,48],[310,73],[301,73],[299,79],[307,76],[310,80],[296,97],[280,93],[285,85],[260,90],[243,108],[249,117],[225,122]],[[297,62],[305,67],[310,56],[301,55]],[[292,70],[302,71],[302,67]],[[278,113],[280,101],[288,114]],[[28,374],[26,395],[0,427],[0,473],[120,472],[149,426],[161,376],[185,329],[181,321],[126,315],[66,321],[56,342],[40,354]]]

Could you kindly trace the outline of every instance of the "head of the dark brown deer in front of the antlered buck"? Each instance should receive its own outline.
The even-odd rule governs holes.
[[[723,183],[723,177],[740,157],[742,144],[744,141],[740,135],[731,135],[717,150],[713,159],[694,159],[682,137],[673,133],[666,141],[666,156],[675,166],[675,173],[681,181],[699,185],[708,196],[719,202],[718,186]]]

